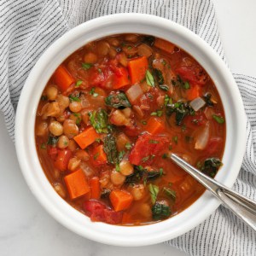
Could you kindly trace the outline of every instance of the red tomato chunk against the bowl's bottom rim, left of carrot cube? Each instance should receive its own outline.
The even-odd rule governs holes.
[[[84,211],[92,221],[102,221],[108,224],[119,224],[123,216],[123,212],[114,212],[102,202],[95,200],[85,201]]]

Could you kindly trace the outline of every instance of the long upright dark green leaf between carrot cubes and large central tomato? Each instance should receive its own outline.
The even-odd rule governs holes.
[[[108,134],[104,138],[104,152],[107,154],[108,163],[117,164],[119,162],[119,153],[116,147],[115,138],[112,134]]]

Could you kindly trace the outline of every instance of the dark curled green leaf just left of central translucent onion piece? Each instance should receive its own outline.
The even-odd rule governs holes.
[[[108,107],[112,108],[130,108],[131,103],[126,97],[125,93],[122,91],[113,91],[110,95],[105,99],[105,104]]]

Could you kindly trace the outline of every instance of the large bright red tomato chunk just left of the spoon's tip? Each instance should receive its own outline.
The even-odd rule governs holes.
[[[138,137],[134,148],[131,150],[129,156],[131,164],[136,166],[151,164],[154,161],[154,156],[165,148],[166,143],[168,143],[167,137],[144,133]]]

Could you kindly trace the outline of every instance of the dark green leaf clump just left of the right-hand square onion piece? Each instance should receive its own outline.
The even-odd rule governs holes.
[[[182,125],[183,119],[187,115],[195,115],[195,111],[188,102],[175,102],[166,105],[166,115],[171,116],[175,113],[176,125]]]

